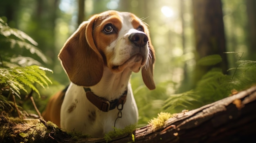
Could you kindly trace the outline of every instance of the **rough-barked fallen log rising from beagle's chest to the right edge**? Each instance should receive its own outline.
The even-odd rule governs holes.
[[[256,86],[201,108],[179,113],[168,119],[159,130],[150,125],[136,129],[134,140],[136,143],[255,142],[255,110]],[[133,141],[131,136],[108,142],[128,141]]]

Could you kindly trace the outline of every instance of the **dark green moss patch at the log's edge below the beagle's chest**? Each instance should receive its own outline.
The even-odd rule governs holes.
[[[114,127],[113,127],[114,128]],[[108,132],[107,134],[104,135],[104,139],[106,142],[111,141],[112,138],[116,138],[118,136],[123,136],[125,134],[132,134],[132,132],[136,129],[136,125],[128,125],[124,129],[118,129],[114,128],[115,131]],[[132,135],[131,135],[132,137]]]

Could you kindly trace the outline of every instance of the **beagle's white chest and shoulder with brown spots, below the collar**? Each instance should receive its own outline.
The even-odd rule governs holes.
[[[128,94],[130,95],[130,92]],[[119,112],[117,108],[108,112],[99,110],[88,101],[83,87],[70,84],[61,107],[61,128],[67,131],[76,130],[93,137],[102,137],[104,133],[112,131],[114,126],[124,128],[136,123],[137,110],[129,110],[132,106],[136,107],[136,103],[134,104],[130,97],[126,99],[122,117],[117,119]]]

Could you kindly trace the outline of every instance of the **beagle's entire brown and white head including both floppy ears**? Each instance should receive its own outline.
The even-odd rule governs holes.
[[[113,73],[141,68],[143,81],[155,89],[155,51],[149,31],[132,13],[106,11],[83,22],[61,49],[59,59],[70,80],[93,86],[107,66]]]

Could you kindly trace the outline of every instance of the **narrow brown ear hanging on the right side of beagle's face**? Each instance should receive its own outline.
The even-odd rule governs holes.
[[[142,68],[142,79],[144,84],[148,87],[148,89],[155,89],[155,81],[153,79],[153,70],[155,64],[155,50],[151,44],[151,40],[149,37],[149,32],[146,30],[146,34],[148,35],[148,47],[149,47],[149,56],[148,63]]]

